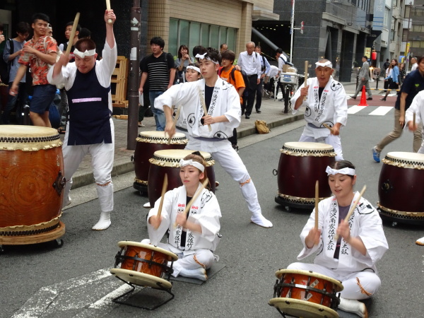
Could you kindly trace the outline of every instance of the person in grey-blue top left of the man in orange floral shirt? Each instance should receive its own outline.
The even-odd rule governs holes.
[[[13,81],[15,80],[16,73],[18,73],[18,61],[20,54],[23,52],[23,45],[26,43],[26,38],[30,34],[30,25],[26,22],[18,23],[18,25],[16,25],[16,34],[16,37],[6,41],[6,47],[4,48],[3,53],[3,61],[8,67],[8,78],[5,78],[7,81],[4,81],[4,83],[8,83],[9,88],[11,88]],[[16,102],[18,102],[18,107],[16,108],[16,121],[20,123],[20,114],[27,100],[25,78],[26,76],[23,76],[19,82],[18,95],[8,95],[8,101],[0,120],[1,124],[9,123],[9,116],[15,107]]]

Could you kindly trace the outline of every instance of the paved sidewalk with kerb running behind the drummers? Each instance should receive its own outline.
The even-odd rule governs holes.
[[[355,90],[355,83],[343,83],[343,86],[345,87],[346,91]],[[270,100],[268,96],[265,95],[264,98],[262,98],[261,114],[257,114],[257,112],[255,112],[253,109],[253,112],[250,115],[250,119],[245,119],[245,116],[242,116],[242,122],[237,128],[237,139],[242,139],[243,137],[257,134],[257,130],[254,126],[254,122],[257,119],[264,120],[271,129],[276,126],[282,126],[284,124],[303,119],[303,112],[298,112],[298,114],[293,115],[291,112],[284,114],[283,110],[284,102],[279,100]],[[112,119],[114,122],[115,134],[114,166],[112,170],[112,177],[116,177],[118,175],[123,175],[124,173],[134,171],[134,163],[131,161],[131,156],[134,155],[134,150],[128,150],[126,148],[128,121],[124,119],[115,119],[114,117],[112,117]],[[143,124],[146,126],[139,128],[139,133],[141,131],[156,130],[155,119],[153,117],[145,117]],[[63,141],[64,135],[61,135],[61,139]],[[93,169],[91,167],[91,156],[86,155],[86,158],[84,158],[78,170],[73,175],[72,189],[93,183],[94,178]]]

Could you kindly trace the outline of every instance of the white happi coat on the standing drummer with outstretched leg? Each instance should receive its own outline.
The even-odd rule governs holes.
[[[234,86],[226,81],[223,81],[221,78],[217,79],[208,114],[212,117],[225,115],[228,122],[211,124],[212,130],[209,131],[207,125],[201,124],[201,117],[204,117],[204,110],[201,105],[199,88],[204,95],[204,79],[172,86],[155,99],[155,108],[163,110],[165,105],[168,107],[171,107],[171,105],[182,105],[184,112],[181,112],[181,114],[184,114],[184,117],[186,117],[187,130],[190,136],[194,138],[228,139],[228,137],[232,136],[232,130],[240,125],[242,116],[240,97],[237,91]],[[202,150],[211,152],[206,149]]]

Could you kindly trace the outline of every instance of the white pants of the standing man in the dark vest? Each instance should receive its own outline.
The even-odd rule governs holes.
[[[63,206],[68,202],[69,192],[72,186],[72,176],[78,169],[83,158],[91,155],[91,165],[93,165],[93,176],[97,184],[96,190],[102,212],[113,210],[113,184],[112,168],[114,158],[114,126],[111,124],[112,143],[95,143],[93,145],[68,145],[69,123],[66,128],[64,146],[64,170],[66,186],[64,188]]]

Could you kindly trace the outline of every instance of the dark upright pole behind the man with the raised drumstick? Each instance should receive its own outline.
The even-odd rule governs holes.
[[[128,75],[128,129],[126,134],[126,148],[136,149],[136,138],[139,133],[139,60],[140,60],[140,0],[133,1],[131,8],[131,52],[129,52]]]

